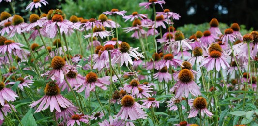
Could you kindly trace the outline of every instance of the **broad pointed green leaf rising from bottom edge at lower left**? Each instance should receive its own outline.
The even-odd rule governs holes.
[[[31,112],[31,108],[25,114],[25,116],[22,118],[21,123],[23,126],[38,126],[32,112]],[[19,126],[21,126],[21,125],[19,124]]]

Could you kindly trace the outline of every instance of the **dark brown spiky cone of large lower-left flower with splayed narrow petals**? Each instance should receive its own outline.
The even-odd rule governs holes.
[[[46,84],[46,87],[44,89],[44,93],[47,96],[55,96],[55,95],[60,94],[60,89],[54,81],[50,81]]]

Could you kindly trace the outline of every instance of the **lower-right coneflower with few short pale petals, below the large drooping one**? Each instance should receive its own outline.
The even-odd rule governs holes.
[[[203,97],[197,97],[194,99],[193,107],[190,110],[188,118],[196,117],[198,112],[200,111],[202,117],[206,114],[209,117],[212,117],[213,114],[206,108],[207,101]]]

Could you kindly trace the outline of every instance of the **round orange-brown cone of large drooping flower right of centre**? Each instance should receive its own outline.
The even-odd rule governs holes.
[[[194,79],[194,75],[191,70],[183,69],[179,72],[178,78],[181,82],[189,83]]]

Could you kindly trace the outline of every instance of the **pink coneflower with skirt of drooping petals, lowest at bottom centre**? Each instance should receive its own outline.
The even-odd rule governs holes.
[[[122,107],[116,117],[121,117],[121,119],[137,120],[146,119],[147,115],[140,108],[140,104],[135,102],[134,98],[130,95],[125,95],[121,100]]]

